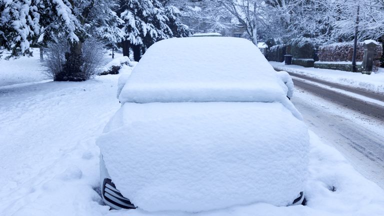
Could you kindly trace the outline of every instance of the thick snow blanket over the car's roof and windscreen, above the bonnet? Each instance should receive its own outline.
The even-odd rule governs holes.
[[[170,38],[153,44],[126,81],[121,102],[284,100],[284,83],[251,41]]]

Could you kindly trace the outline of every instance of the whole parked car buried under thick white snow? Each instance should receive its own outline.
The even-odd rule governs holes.
[[[198,212],[304,198],[309,138],[250,41],[171,38],[142,56],[97,139],[111,208]]]

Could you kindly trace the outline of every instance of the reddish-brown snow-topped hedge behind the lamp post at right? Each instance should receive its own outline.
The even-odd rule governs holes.
[[[323,45],[319,47],[318,58],[320,61],[351,61],[353,55],[353,43],[341,42]],[[362,61],[364,55],[363,42],[357,43],[356,61]],[[379,59],[382,55],[382,46],[379,44],[374,50],[373,65],[377,70],[380,65]]]

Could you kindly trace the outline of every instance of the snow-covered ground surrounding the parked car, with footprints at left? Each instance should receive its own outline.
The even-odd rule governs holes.
[[[32,77],[27,82],[43,80],[33,75],[41,70],[38,60],[26,65],[23,58],[1,60],[0,68],[20,61],[19,74]],[[3,77],[13,76],[6,73],[0,73],[1,83],[22,82],[7,81]],[[120,107],[118,77],[0,88],[0,215],[383,215],[384,191],[313,132],[305,206],[249,203],[198,213],[109,210],[99,195],[95,139]]]

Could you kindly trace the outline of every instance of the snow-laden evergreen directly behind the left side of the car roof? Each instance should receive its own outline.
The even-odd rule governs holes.
[[[159,0],[120,0],[119,3],[117,13],[124,20],[121,28],[124,32],[123,54],[129,55],[129,48],[132,48],[136,61],[154,42],[189,34],[175,7],[164,7]]]

